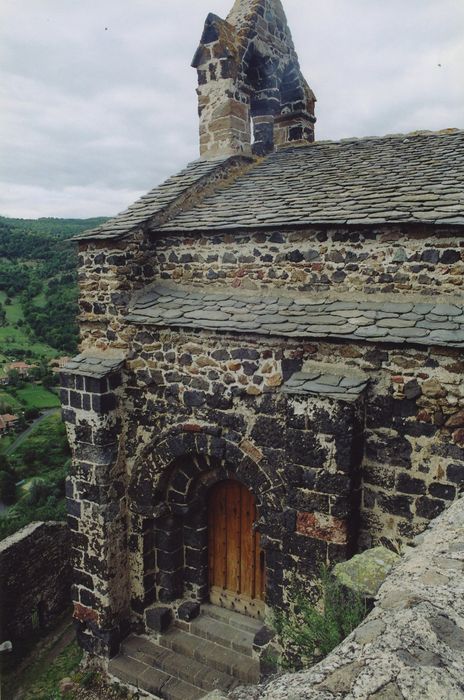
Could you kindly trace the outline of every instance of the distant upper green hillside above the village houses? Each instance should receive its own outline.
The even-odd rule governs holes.
[[[69,239],[103,221],[0,217],[3,354],[40,359],[76,351],[77,256]]]

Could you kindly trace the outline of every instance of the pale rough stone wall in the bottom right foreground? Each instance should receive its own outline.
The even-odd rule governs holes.
[[[415,540],[366,620],[308,671],[234,700],[459,700],[464,697],[464,499]],[[217,695],[216,697],[220,697]]]

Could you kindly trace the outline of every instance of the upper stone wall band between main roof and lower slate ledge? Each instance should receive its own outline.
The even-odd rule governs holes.
[[[326,228],[161,236],[157,279],[249,290],[457,294],[464,244],[449,229]]]

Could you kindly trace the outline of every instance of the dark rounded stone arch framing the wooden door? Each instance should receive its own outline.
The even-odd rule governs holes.
[[[146,582],[142,607],[207,599],[207,495],[213,484],[231,478],[256,498],[262,548],[273,550],[268,581],[274,586],[273,572],[281,569],[285,489],[280,476],[258,452],[253,459],[252,451],[250,443],[240,446],[213,426],[177,426],[147,445],[129,488],[130,509],[143,522],[138,544]]]

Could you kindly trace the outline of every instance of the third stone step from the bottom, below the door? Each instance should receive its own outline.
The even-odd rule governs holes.
[[[161,635],[159,644],[183,656],[200,661],[210,668],[238,678],[243,683],[259,681],[259,662],[256,659],[176,627]]]

